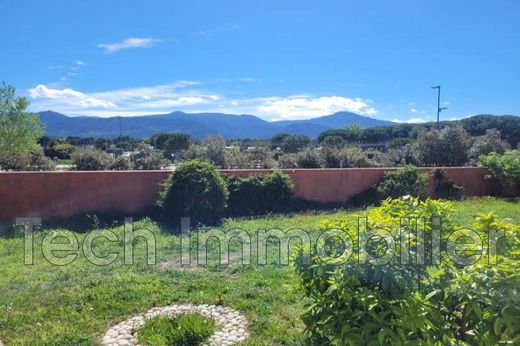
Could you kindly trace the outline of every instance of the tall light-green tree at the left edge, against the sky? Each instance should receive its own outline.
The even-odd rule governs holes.
[[[43,126],[37,114],[26,111],[29,101],[16,97],[12,86],[0,87],[0,152],[28,153],[40,148]]]

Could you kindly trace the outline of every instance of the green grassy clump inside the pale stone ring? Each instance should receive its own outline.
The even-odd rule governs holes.
[[[137,338],[145,346],[201,345],[215,331],[211,319],[195,314],[178,317],[155,317],[137,330]]]

